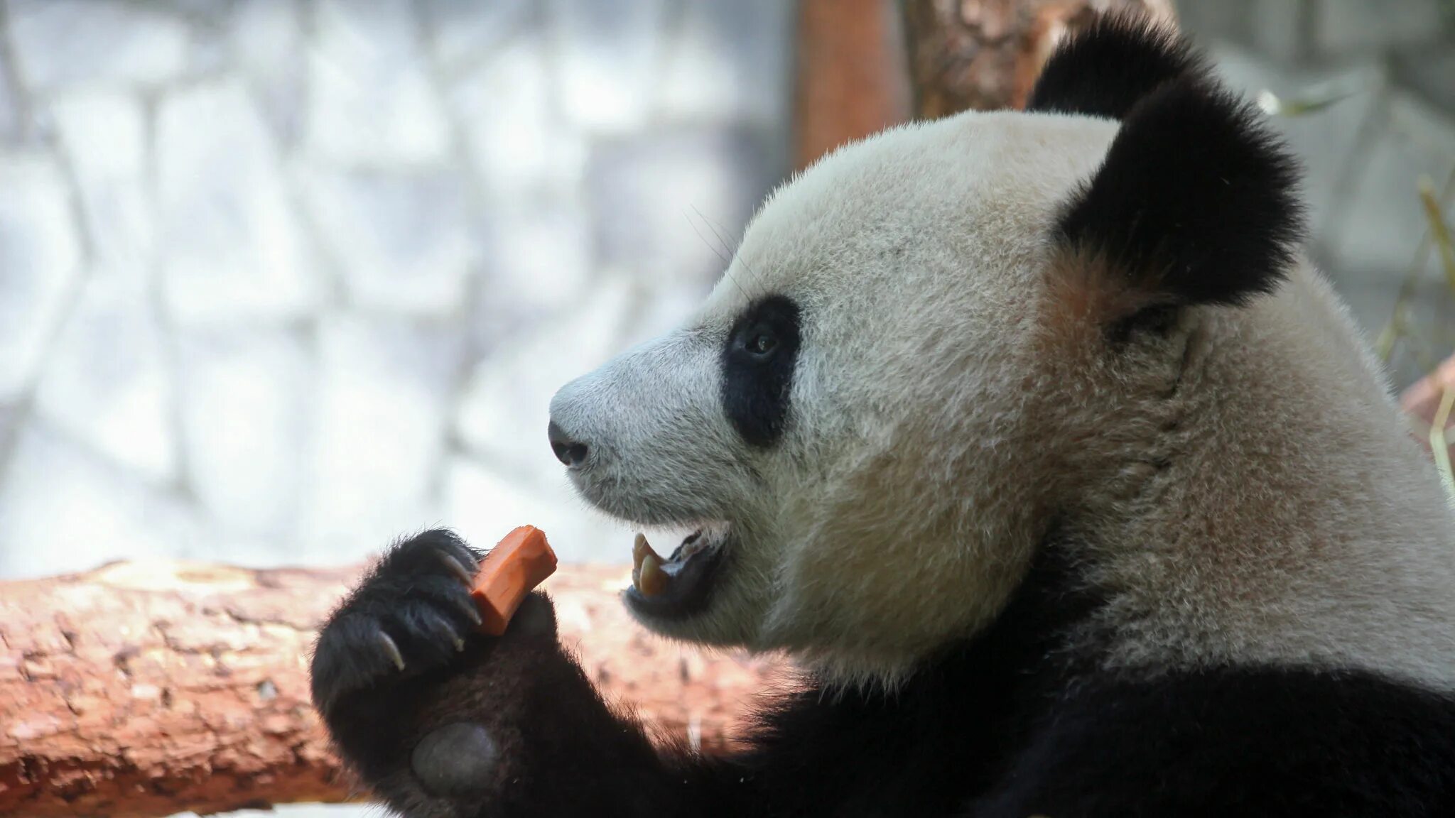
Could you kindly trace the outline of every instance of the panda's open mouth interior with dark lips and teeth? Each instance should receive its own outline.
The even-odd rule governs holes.
[[[726,523],[697,528],[666,557],[656,553],[645,534],[637,534],[627,605],[658,619],[685,617],[706,608],[730,531]]]

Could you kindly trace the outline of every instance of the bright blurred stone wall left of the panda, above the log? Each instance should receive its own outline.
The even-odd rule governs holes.
[[[786,172],[786,0],[0,3],[0,576],[627,559],[557,386]]]

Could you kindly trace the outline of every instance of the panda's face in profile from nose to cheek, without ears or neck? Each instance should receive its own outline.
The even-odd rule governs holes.
[[[560,390],[582,496],[687,534],[636,547],[647,627],[892,677],[1000,610],[1045,524],[1046,236],[1113,132],[968,114],[847,147],[771,196],[682,329]]]

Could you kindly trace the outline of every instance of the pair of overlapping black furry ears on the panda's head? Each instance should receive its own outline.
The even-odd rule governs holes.
[[[1241,304],[1282,281],[1304,236],[1298,166],[1174,33],[1091,26],[1051,58],[1029,108],[1122,119],[1056,229],[1144,304]]]

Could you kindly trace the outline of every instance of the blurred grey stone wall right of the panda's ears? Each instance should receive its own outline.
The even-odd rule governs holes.
[[[1419,196],[1429,180],[1455,217],[1455,0],[1179,0],[1177,13],[1238,90],[1314,108],[1273,116],[1305,164],[1314,259],[1371,339],[1408,290],[1411,339],[1390,364],[1410,384],[1455,348]]]

